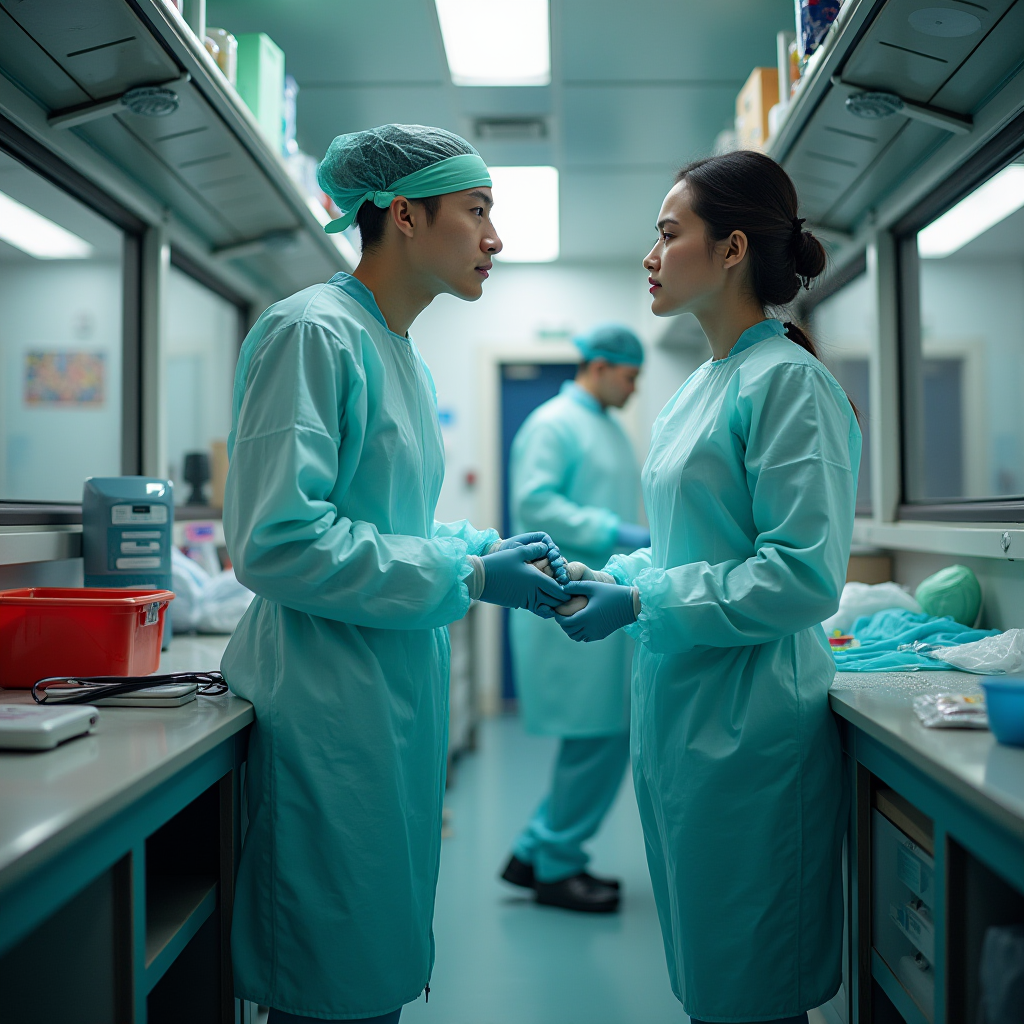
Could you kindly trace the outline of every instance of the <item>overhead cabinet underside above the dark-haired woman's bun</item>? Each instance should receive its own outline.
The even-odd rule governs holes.
[[[769,148],[793,176],[802,214],[840,231],[969,133],[1024,62],[1024,0],[848,6]],[[903,110],[858,116],[847,100],[869,92],[899,97]]]

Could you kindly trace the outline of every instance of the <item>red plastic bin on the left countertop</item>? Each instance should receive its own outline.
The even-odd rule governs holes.
[[[160,667],[169,590],[0,591],[0,686],[48,676],[147,676]]]

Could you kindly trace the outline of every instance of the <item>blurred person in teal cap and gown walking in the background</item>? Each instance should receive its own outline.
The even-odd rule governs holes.
[[[636,389],[640,339],[604,325],[574,339],[583,362],[574,381],[536,409],[512,442],[514,532],[544,530],[562,556],[599,569],[616,551],[650,543],[640,511],[633,445],[608,414]],[[516,840],[502,873],[537,891],[540,903],[613,911],[618,883],[587,871],[583,844],[600,827],[629,762],[633,641],[618,632],[580,650],[551,620],[510,616],[516,692],[527,732],[561,745],[548,795]]]

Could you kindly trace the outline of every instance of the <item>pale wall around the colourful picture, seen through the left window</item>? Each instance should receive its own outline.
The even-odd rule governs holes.
[[[0,310],[0,498],[81,501],[85,477],[121,473],[121,266],[5,263]],[[104,353],[103,403],[28,406],[30,351]]]

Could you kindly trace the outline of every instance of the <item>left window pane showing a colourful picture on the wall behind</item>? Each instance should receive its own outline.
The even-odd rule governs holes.
[[[121,473],[122,231],[0,153],[0,500]]]

